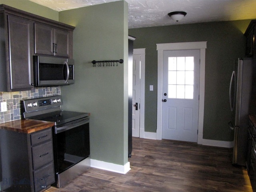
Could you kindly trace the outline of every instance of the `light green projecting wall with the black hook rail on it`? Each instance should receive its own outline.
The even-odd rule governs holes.
[[[66,10],[59,19],[76,27],[76,82],[61,87],[64,109],[91,113],[91,159],[124,165],[128,162],[128,4],[118,1]],[[124,64],[114,67],[91,63],[119,59]]]

